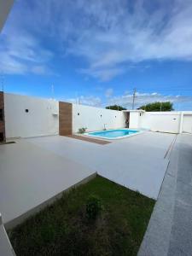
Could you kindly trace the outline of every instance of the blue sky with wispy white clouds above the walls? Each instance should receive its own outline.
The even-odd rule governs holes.
[[[191,0],[15,0],[0,90],[96,107],[192,110]]]

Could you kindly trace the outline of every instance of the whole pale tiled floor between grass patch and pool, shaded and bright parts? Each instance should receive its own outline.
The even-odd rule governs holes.
[[[0,212],[5,224],[98,172],[157,198],[173,135],[146,132],[107,145],[36,137],[0,146]]]

